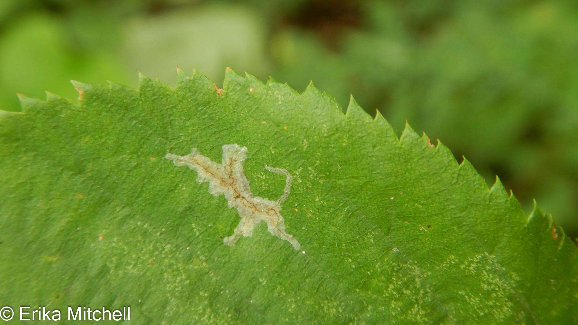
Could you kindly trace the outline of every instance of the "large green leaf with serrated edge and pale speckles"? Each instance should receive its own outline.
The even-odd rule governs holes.
[[[218,92],[181,71],[176,89],[73,84],[79,104],[21,97],[2,115],[2,304],[169,324],[578,321],[576,245],[409,125],[398,139],[353,99],[343,115],[312,85],[230,70]],[[177,166],[191,148],[204,162]],[[299,246],[268,229],[279,216]],[[240,222],[252,232],[224,245]]]

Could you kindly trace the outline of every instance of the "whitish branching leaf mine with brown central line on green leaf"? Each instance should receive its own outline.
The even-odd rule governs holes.
[[[193,148],[187,156],[177,156],[168,153],[165,158],[170,159],[177,166],[188,166],[197,171],[197,182],[209,182],[209,193],[218,196],[223,194],[229,208],[237,209],[241,220],[235,228],[235,232],[223,239],[225,245],[233,246],[241,236],[251,237],[253,229],[261,221],[265,221],[272,235],[284,239],[299,250],[301,245],[285,231],[285,222],[280,214],[281,202],[285,201],[291,190],[293,178],[283,168],[273,168],[265,165],[265,168],[273,173],[280,173],[287,177],[283,195],[276,201],[268,198],[255,197],[251,193],[249,180],[243,172],[247,147],[239,145],[224,145],[223,160],[217,164],[208,157],[199,154],[197,148]]]

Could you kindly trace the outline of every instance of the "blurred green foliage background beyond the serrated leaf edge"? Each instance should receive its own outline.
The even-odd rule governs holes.
[[[576,1],[0,1],[0,109],[16,93],[75,99],[69,79],[217,84],[225,67],[344,107],[352,93],[499,175],[578,237]],[[458,158],[461,161],[461,158]]]

